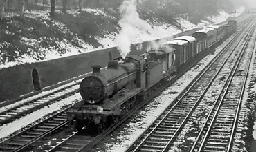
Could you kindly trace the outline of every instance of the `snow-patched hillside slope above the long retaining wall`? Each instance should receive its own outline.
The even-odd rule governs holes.
[[[132,5],[120,10],[87,8],[68,10],[67,14],[56,10],[53,18],[48,10],[27,10],[23,20],[15,12],[8,13],[0,27],[0,69],[120,46],[128,41],[129,45],[159,39],[198,27],[181,17]],[[230,16],[223,10],[221,13],[217,15],[219,19],[208,19],[204,24]],[[127,26],[129,30],[124,32],[122,29]]]

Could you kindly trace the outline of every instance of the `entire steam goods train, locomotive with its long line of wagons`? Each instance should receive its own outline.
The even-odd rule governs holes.
[[[80,83],[82,101],[68,110],[68,120],[78,131],[84,126],[104,129],[147,98],[167,76],[181,73],[203,51],[235,32],[236,24],[230,20],[177,37],[150,50],[146,58],[127,55],[110,60],[107,68],[93,66],[93,73]]]

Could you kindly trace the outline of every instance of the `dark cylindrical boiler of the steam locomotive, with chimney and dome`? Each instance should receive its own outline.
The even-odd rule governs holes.
[[[119,63],[120,62],[120,63]],[[84,102],[95,104],[117,93],[125,86],[136,82],[140,63],[134,59],[109,61],[107,69],[100,71],[100,66],[93,66],[93,74],[85,77],[80,84],[80,95]]]

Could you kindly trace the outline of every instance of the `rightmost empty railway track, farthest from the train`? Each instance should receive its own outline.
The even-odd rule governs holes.
[[[251,35],[253,32],[250,32],[248,37]],[[234,65],[234,70],[230,72],[230,79],[226,80],[226,87],[219,94],[218,100],[212,107],[198,137],[196,137],[197,140],[191,151],[232,151],[246,77],[253,56],[251,51],[246,53],[248,42],[249,39],[247,39],[244,48],[241,49],[238,59],[241,64],[237,61]]]

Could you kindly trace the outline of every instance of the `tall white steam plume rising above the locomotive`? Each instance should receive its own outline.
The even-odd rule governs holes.
[[[121,31],[116,37],[115,43],[118,45],[120,55],[125,59],[131,51],[131,41],[136,39],[138,31],[150,31],[152,27],[147,21],[140,19],[136,10],[136,0],[125,0],[119,9]]]

